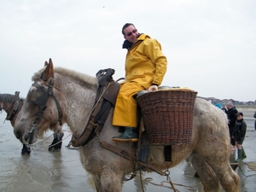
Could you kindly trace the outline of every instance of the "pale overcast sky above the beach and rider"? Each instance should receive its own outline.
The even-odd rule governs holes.
[[[157,39],[168,60],[162,85],[198,96],[256,100],[255,0],[1,0],[0,93],[20,96],[52,61],[95,76],[125,76],[121,28],[134,23]]]

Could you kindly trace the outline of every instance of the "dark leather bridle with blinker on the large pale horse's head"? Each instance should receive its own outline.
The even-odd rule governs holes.
[[[46,102],[48,101],[49,96],[52,96],[55,100],[55,103],[56,103],[56,106],[57,106],[57,109],[58,109],[58,115],[59,115],[58,122],[59,122],[60,125],[62,125],[61,106],[60,106],[60,103],[56,99],[55,94],[53,92],[53,86],[54,86],[53,77],[49,81],[48,89],[46,89],[44,86],[41,86],[41,85],[38,85],[38,84],[32,84],[32,86],[36,87],[37,90],[35,90],[32,93],[31,102],[38,105],[39,110],[38,110],[38,114],[37,114],[36,118],[32,120],[32,125],[31,125],[30,131],[26,132],[22,137],[23,143],[26,143],[26,144],[28,144],[25,140],[26,134],[32,135],[34,131],[37,131],[38,121],[41,119],[42,114],[44,113],[44,110],[47,108]],[[29,138],[29,143],[32,143],[32,137]]]

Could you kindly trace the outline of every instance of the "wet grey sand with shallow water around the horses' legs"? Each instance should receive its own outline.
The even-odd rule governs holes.
[[[241,162],[236,172],[241,178],[241,191],[256,191],[256,171],[249,168],[256,161],[256,131],[254,131],[254,110],[239,110],[244,113],[247,122],[247,136],[243,143],[247,159]],[[45,134],[44,141],[33,148],[30,155],[21,155],[22,144],[15,138],[13,127],[9,121],[3,124],[5,113],[0,114],[0,191],[2,192],[69,192],[96,191],[89,173],[84,171],[80,160],[79,150],[68,149],[67,143],[71,136],[67,126],[64,126],[65,137],[61,152],[49,152],[48,146],[53,140],[52,132]],[[51,136],[51,137],[49,137]],[[48,138],[49,137],[49,138]],[[48,138],[48,139],[47,139]],[[214,150],[214,149],[212,149]],[[236,160],[236,153],[230,151],[230,162]],[[199,178],[194,177],[194,168],[183,160],[178,166],[169,170],[172,183],[177,191],[201,191]],[[157,173],[142,173],[143,189],[148,192],[173,191],[166,177]],[[113,183],[114,184],[114,183]],[[140,173],[131,181],[124,183],[124,192],[141,192]]]

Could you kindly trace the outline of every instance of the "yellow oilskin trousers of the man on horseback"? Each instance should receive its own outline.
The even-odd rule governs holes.
[[[137,127],[137,102],[132,96],[145,89],[137,82],[125,82],[120,86],[113,110],[113,125]]]

